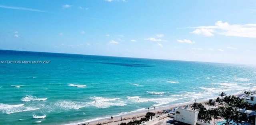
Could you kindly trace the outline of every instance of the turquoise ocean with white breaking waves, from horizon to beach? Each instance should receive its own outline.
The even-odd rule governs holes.
[[[256,66],[0,50],[0,125],[62,125],[256,89]],[[49,62],[50,61],[50,62]]]

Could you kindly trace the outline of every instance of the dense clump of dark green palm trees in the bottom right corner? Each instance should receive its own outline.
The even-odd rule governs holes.
[[[247,94],[247,93],[246,93]],[[224,92],[220,93],[220,97],[218,97],[216,100],[209,99],[209,101],[206,102],[206,105],[212,106],[215,105],[215,103],[218,103],[218,108],[215,109],[206,109],[204,105],[200,103],[194,103],[192,105],[192,110],[198,110],[198,120],[203,121],[205,123],[210,123],[211,117],[214,117],[214,123],[215,119],[218,117],[222,117],[226,120],[223,125],[233,125],[231,121],[234,122],[234,125],[242,124],[242,121],[247,121],[246,119],[247,110],[256,110],[256,104],[251,105],[251,103],[248,103],[247,101],[244,101],[244,99],[240,99],[239,97],[236,97],[234,95],[226,96]],[[224,107],[223,103],[224,102]],[[219,107],[219,104],[222,105]],[[237,110],[239,109],[239,110]],[[245,109],[246,113],[240,113],[240,109]],[[249,117],[250,121],[253,121],[255,124],[255,116]]]

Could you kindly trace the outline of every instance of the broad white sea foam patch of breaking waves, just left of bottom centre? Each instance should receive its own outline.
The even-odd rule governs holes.
[[[114,99],[107,99],[104,97],[91,97],[92,101],[89,103],[90,106],[94,106],[97,108],[108,108],[112,106],[124,106],[126,103],[124,101],[121,101],[119,98]]]

